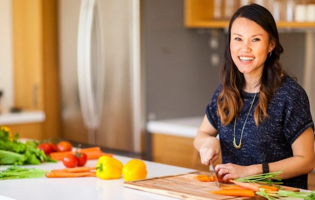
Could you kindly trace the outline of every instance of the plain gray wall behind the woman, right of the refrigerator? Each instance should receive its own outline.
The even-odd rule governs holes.
[[[222,61],[226,34],[220,31],[219,49],[213,51],[208,45],[209,30],[184,27],[183,1],[145,0],[142,8],[147,116],[204,115],[220,74],[219,67],[211,66],[210,56],[220,53]],[[280,42],[284,69],[303,86],[305,34],[280,33]]]

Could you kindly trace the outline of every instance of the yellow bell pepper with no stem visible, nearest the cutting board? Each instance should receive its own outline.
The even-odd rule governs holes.
[[[147,174],[146,164],[141,160],[132,159],[123,166],[123,179],[125,181],[145,179]]]

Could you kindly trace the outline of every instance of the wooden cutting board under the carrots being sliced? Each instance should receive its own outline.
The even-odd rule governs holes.
[[[179,199],[213,199],[213,200],[263,200],[264,197],[256,195],[255,197],[231,197],[223,195],[211,194],[208,191],[220,190],[215,186],[214,182],[201,182],[194,179],[193,176],[206,174],[209,172],[195,171],[180,175],[160,176],[138,181],[124,182],[124,187],[129,187],[145,192],[151,192],[168,197]],[[233,183],[220,183],[221,186],[233,186]],[[294,187],[282,186],[282,190],[299,192],[300,190]]]

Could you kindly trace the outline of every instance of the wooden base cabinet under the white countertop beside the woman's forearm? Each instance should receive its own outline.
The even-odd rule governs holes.
[[[193,147],[193,138],[152,133],[152,161],[180,167],[209,171],[200,162],[199,152]],[[220,164],[221,155],[214,162]]]

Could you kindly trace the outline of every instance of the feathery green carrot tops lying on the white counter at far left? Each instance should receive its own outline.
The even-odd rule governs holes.
[[[8,167],[0,171],[0,180],[37,178],[46,175],[49,171],[35,168]]]

